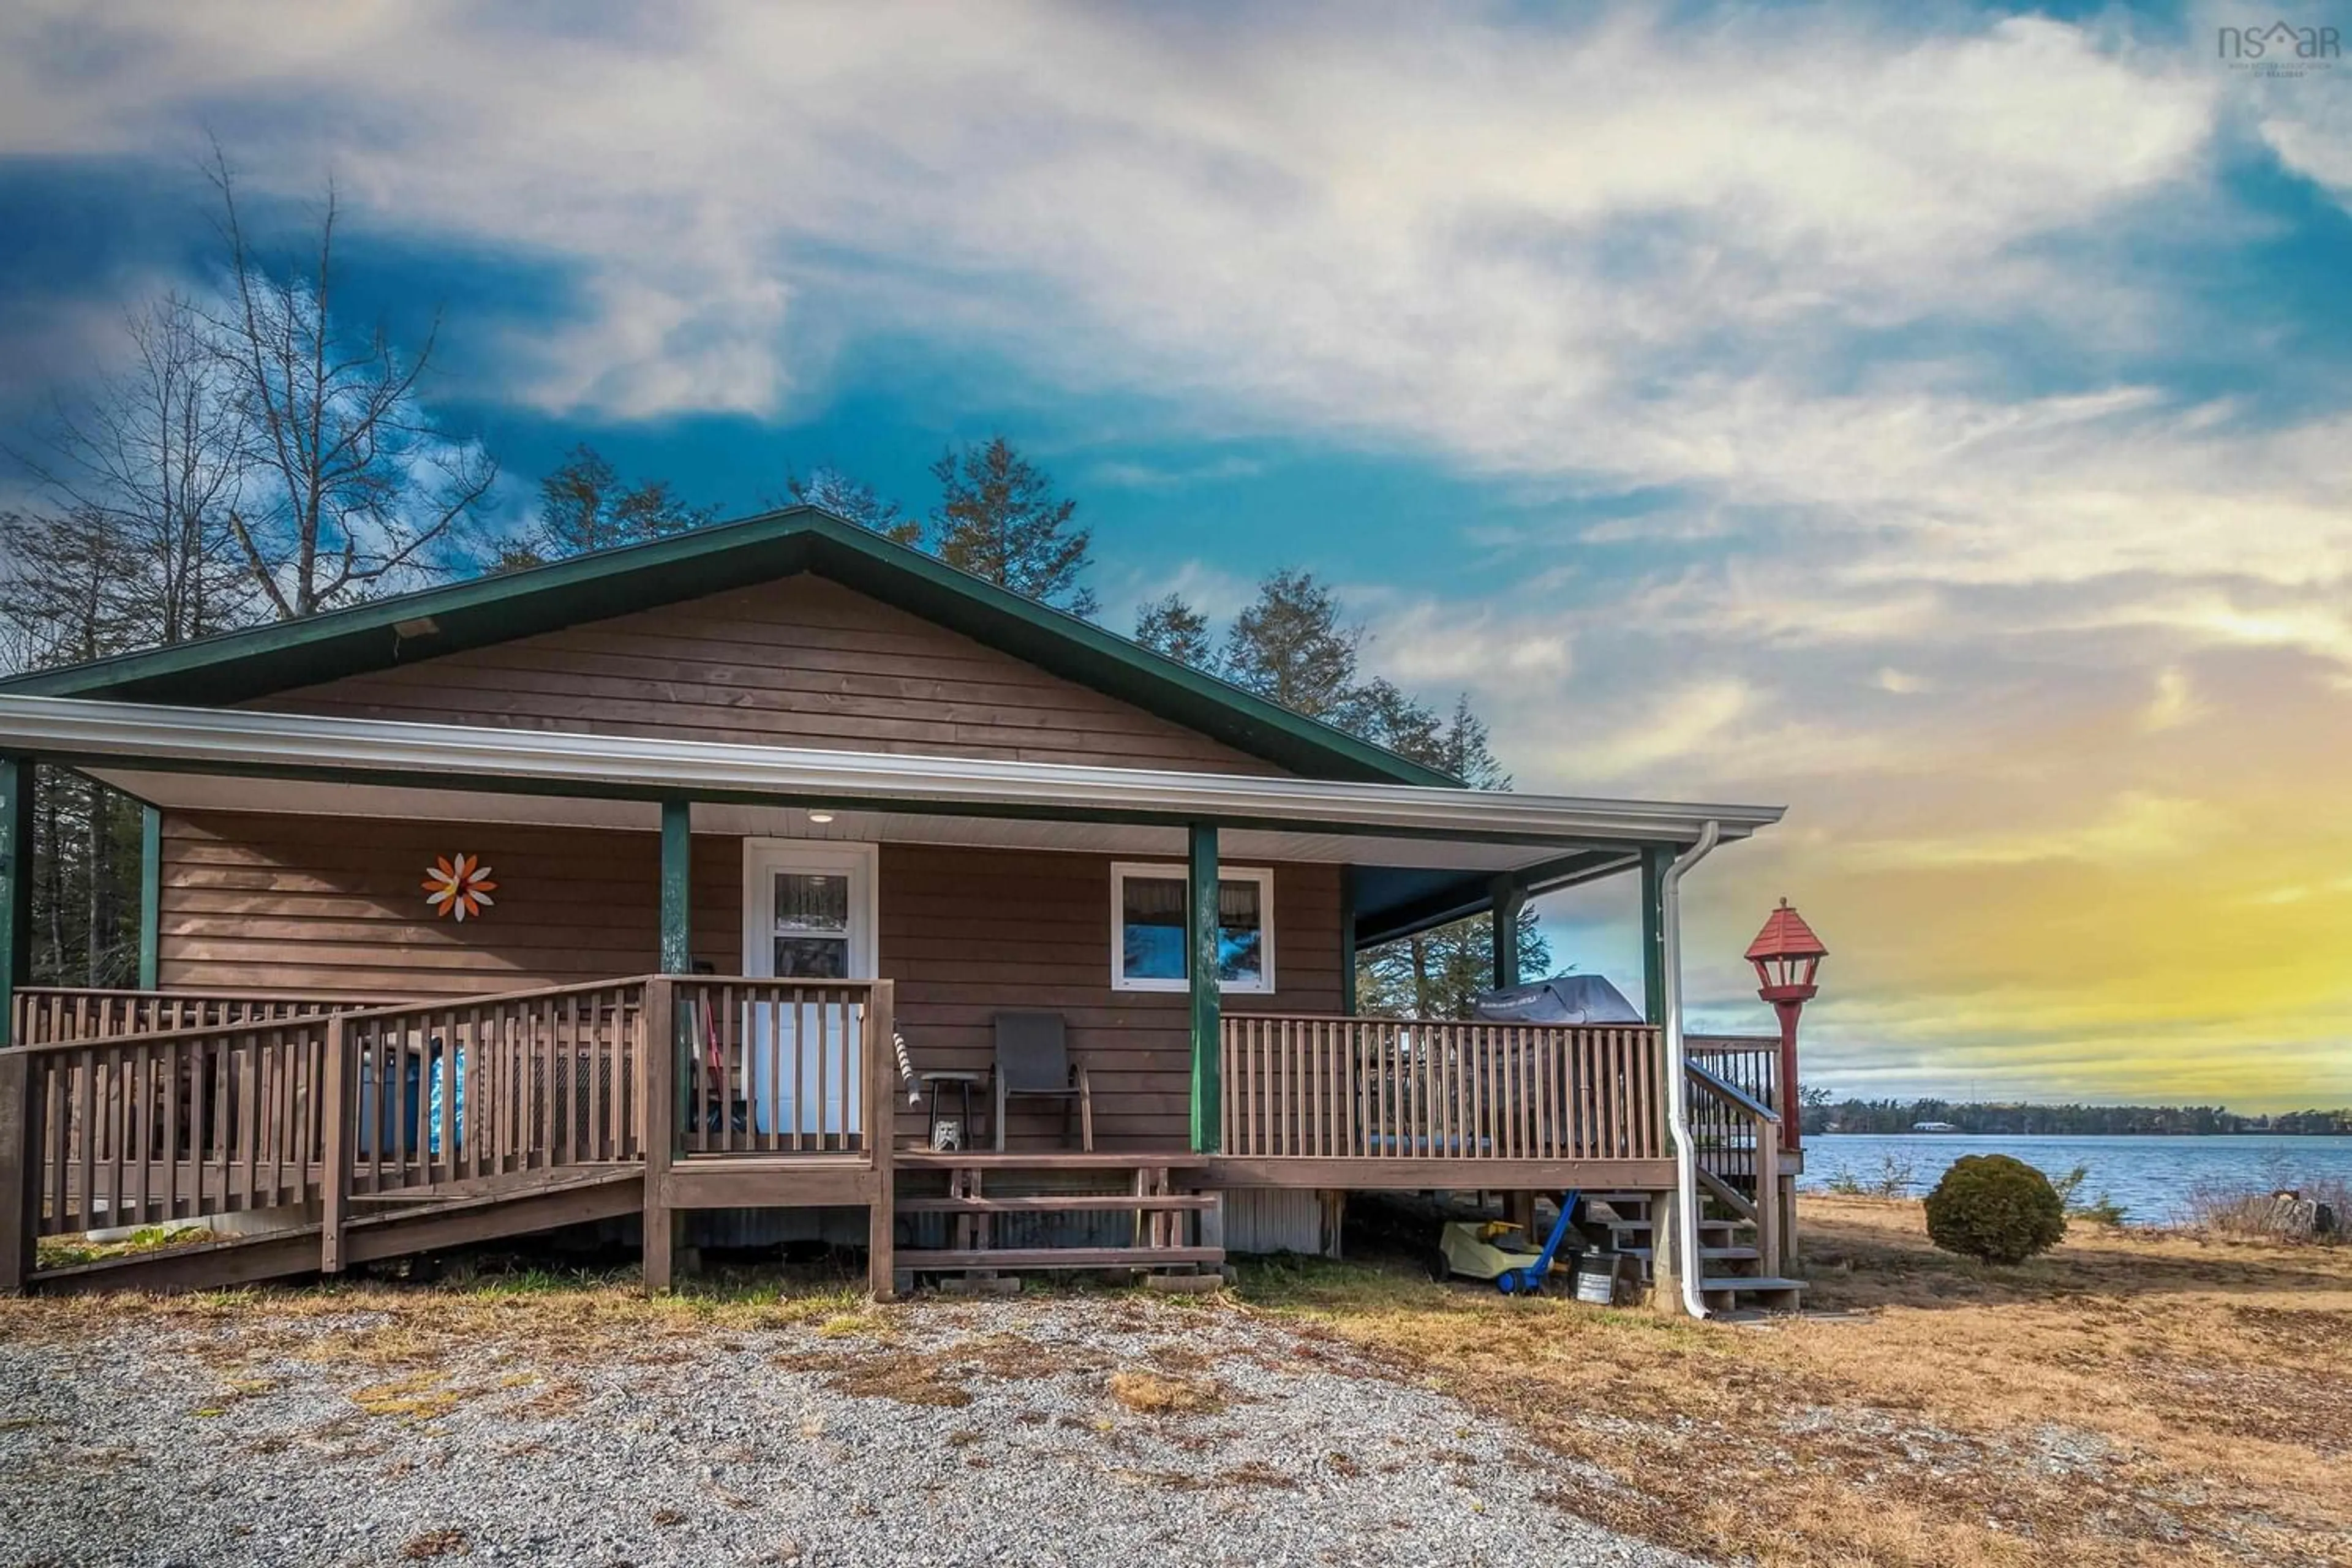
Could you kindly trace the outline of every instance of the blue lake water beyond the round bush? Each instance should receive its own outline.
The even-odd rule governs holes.
[[[1907,1175],[1907,1192],[1924,1197],[1962,1154],[2016,1154],[2049,1178],[2089,1166],[2082,1197],[2107,1192],[2133,1225],[2180,1218],[2192,1187],[2258,1192],[2333,1180],[2352,1182],[2352,1138],[1994,1138],[1973,1133],[1813,1133],[1804,1140],[1804,1190],[1828,1187],[1851,1171],[1877,1190],[1884,1173]],[[1893,1161],[1893,1164],[1889,1164]]]

